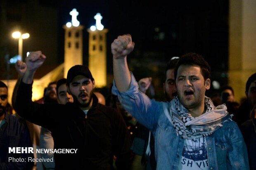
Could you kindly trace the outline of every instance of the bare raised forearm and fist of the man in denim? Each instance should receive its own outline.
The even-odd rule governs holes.
[[[126,57],[133,51],[134,45],[129,34],[118,36],[111,44],[114,80],[119,92],[125,92],[130,86],[131,76]]]

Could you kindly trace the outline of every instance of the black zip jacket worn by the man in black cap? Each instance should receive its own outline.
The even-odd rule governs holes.
[[[55,169],[126,170],[131,161],[131,140],[126,124],[116,109],[98,103],[85,113],[76,104],[38,104],[31,101],[32,84],[21,82],[17,112],[23,118],[52,132],[55,149],[78,149],[77,153],[55,153]]]

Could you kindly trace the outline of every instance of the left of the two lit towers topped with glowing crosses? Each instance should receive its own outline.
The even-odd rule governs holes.
[[[64,78],[74,65],[83,64],[83,28],[76,19],[78,12],[73,9],[70,13],[71,22],[68,22],[63,28],[65,29],[64,44]]]

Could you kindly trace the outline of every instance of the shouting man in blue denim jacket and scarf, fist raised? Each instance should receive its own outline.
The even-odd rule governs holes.
[[[111,44],[114,67],[113,94],[155,139],[158,170],[249,169],[247,149],[237,124],[225,105],[215,107],[209,97],[209,64],[198,54],[185,54],[174,74],[178,96],[156,102],[138,90],[129,71],[127,55],[133,51],[130,35]]]

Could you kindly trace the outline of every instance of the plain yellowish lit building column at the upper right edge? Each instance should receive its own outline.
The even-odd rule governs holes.
[[[256,71],[256,1],[229,1],[228,84],[242,99],[248,78]],[[238,100],[239,101],[239,100]]]

